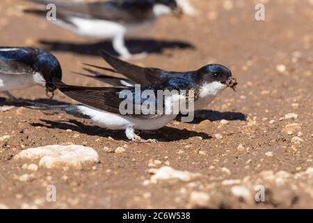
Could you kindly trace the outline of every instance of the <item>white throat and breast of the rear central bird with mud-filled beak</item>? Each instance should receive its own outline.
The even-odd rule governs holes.
[[[198,100],[195,101],[195,110],[202,109],[209,105],[216,96],[226,89],[227,85],[220,82],[211,82],[203,84],[200,87],[200,95]]]

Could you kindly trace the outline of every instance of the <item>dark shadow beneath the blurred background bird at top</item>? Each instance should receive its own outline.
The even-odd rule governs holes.
[[[40,44],[45,49],[54,52],[73,52],[75,54],[83,54],[89,56],[99,56],[99,49],[104,49],[107,52],[118,56],[117,52],[113,49],[111,40],[104,40],[95,43],[72,43],[61,41],[40,40]],[[146,53],[161,53],[163,49],[195,49],[191,43],[179,40],[154,40],[150,38],[136,38],[125,40],[125,45],[131,54]]]

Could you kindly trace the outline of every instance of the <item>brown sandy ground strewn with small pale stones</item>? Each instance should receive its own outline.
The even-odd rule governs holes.
[[[158,144],[134,144],[124,132],[67,114],[21,107],[1,112],[0,208],[313,208],[312,0],[262,1],[266,20],[260,22],[255,20],[259,1],[193,2],[200,10],[197,17],[163,17],[146,33],[129,38],[132,52],[150,52],[132,62],[166,70],[221,63],[239,80],[236,93],[225,90],[193,123],[172,121],[141,132]],[[110,43],[23,15],[22,8],[29,6],[1,1],[1,45],[50,49],[61,61],[64,82],[103,86],[71,72],[81,71],[82,63],[106,65],[96,52],[112,51]],[[46,98],[40,87],[13,94]],[[54,100],[74,103],[60,92]],[[286,129],[291,123],[298,125]],[[90,146],[100,163],[81,170],[32,171],[23,164],[38,160],[14,159],[26,148],[52,144]],[[123,153],[104,149],[125,144]],[[163,166],[198,174],[151,182]],[[32,177],[23,180],[23,174]],[[56,186],[56,202],[46,201],[47,185]],[[265,202],[255,201],[257,185],[264,186]]]

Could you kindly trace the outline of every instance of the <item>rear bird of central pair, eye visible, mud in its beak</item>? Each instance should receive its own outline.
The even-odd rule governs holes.
[[[227,86],[235,90],[237,85],[236,79],[232,77],[232,72],[223,65],[209,64],[198,70],[188,72],[172,72],[161,70],[159,68],[143,68],[134,64],[122,61],[108,52],[99,51],[102,58],[113,68],[103,68],[100,66],[91,66],[106,70],[109,72],[120,73],[126,78],[111,77],[90,68],[84,68],[92,75],[75,72],[78,75],[92,77],[99,81],[111,84],[113,86],[133,86],[134,84],[159,84],[169,78],[186,79],[195,89],[201,89],[198,100],[195,101],[195,110],[202,109],[214,100],[216,95]]]

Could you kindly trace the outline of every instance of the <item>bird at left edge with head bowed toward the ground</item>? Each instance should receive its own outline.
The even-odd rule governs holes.
[[[43,49],[33,47],[0,47],[0,93],[11,100],[13,90],[40,85],[47,95],[53,97],[56,86],[53,79],[61,80],[62,70],[55,56]]]

